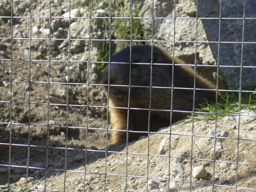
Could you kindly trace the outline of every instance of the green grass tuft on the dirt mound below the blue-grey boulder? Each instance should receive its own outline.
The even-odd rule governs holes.
[[[256,91],[256,89],[255,89]],[[235,114],[239,112],[239,97],[240,99],[240,110],[248,109],[248,110],[256,110],[256,93],[245,94],[243,96],[240,94],[226,94],[225,96],[221,96],[218,103],[209,103],[205,102],[199,104],[199,108],[196,108],[196,111],[203,112],[205,114],[194,114],[194,121],[208,121],[215,120],[216,114],[218,118],[223,118],[225,114]],[[192,121],[192,115],[188,116],[189,120]]]

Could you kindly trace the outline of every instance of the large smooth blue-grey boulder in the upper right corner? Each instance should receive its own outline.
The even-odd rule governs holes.
[[[194,1],[198,10],[199,17],[216,18],[202,20],[202,24],[208,40],[232,42],[220,43],[220,45],[218,43],[210,44],[215,60],[218,61],[219,59],[219,65],[246,66],[242,68],[242,90],[254,90],[256,87],[256,68],[249,66],[256,66],[256,19],[243,20],[243,17],[256,17],[256,1],[222,1],[221,16],[219,0]],[[219,17],[239,19],[222,19],[219,25]],[[241,42],[245,43],[242,44]],[[254,44],[250,42],[254,42]],[[240,68],[241,67],[220,67],[220,73],[226,81],[229,89],[239,88]]]

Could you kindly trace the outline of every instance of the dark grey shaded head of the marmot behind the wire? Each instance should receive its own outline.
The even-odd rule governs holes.
[[[151,46],[135,45],[110,57],[110,64],[106,65],[102,73],[102,82],[108,84],[109,80],[109,84],[111,84],[110,97],[120,99],[128,95],[130,77],[131,85],[149,86],[150,64],[151,62],[155,63],[161,54],[157,47],[153,48],[153,54],[151,54]],[[107,86],[105,88],[108,89]]]

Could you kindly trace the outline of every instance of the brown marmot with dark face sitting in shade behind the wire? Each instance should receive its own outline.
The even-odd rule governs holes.
[[[118,107],[109,108],[110,122],[113,129],[123,130],[111,131],[112,145],[126,141],[127,125],[129,141],[138,139],[143,135],[142,131],[145,131],[144,135],[147,135],[149,107],[151,111],[150,131],[157,131],[159,128],[169,126],[171,124],[172,55],[155,46],[153,46],[152,53],[151,46],[135,45],[112,55],[110,62],[110,66],[107,64],[102,73],[102,81],[104,84],[108,84],[109,77],[109,106]],[[131,64],[130,62],[137,64]],[[153,63],[152,66],[151,62]],[[174,64],[185,63],[178,58],[174,58]],[[152,82],[150,82],[151,67]],[[189,65],[174,65],[173,79],[172,110],[175,111],[172,112],[172,123],[189,115],[189,113],[182,111],[193,111],[194,70]],[[195,88],[213,89],[195,90],[195,108],[204,101],[215,101],[216,85],[198,74],[196,74],[195,80]],[[151,105],[149,104],[150,83],[152,83]],[[129,84],[132,86],[130,87],[130,97]],[[105,88],[108,90],[108,86],[105,86]],[[128,98],[130,102],[128,102]]]

